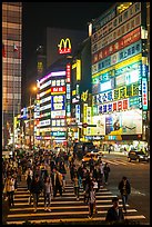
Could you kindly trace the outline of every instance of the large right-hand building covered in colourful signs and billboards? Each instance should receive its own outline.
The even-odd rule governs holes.
[[[103,136],[105,145],[146,141],[145,7],[144,2],[115,3],[92,21],[92,108],[97,124],[92,134]]]

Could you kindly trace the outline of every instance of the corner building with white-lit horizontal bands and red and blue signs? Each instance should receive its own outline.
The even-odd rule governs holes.
[[[58,70],[57,70],[58,69]],[[71,117],[71,63],[69,58],[57,61],[38,80],[37,140],[41,147],[50,142],[67,145],[67,118]]]

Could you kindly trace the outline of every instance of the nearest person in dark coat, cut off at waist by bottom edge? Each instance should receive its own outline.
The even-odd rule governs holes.
[[[115,221],[116,223],[123,221],[124,215],[122,208],[119,207],[119,198],[113,197],[112,204],[113,204],[112,207],[108,209],[105,221],[110,224],[114,224]]]

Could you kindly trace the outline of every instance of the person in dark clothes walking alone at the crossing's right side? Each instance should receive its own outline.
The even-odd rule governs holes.
[[[122,177],[122,180],[119,182],[119,190],[121,194],[124,213],[126,213],[128,198],[131,194],[131,185],[126,177]]]

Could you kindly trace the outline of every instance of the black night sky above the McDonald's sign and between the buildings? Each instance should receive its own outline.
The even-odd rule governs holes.
[[[36,50],[44,45],[47,27],[88,31],[88,22],[100,17],[114,2],[23,2],[22,107],[29,102],[29,88],[36,82]]]

